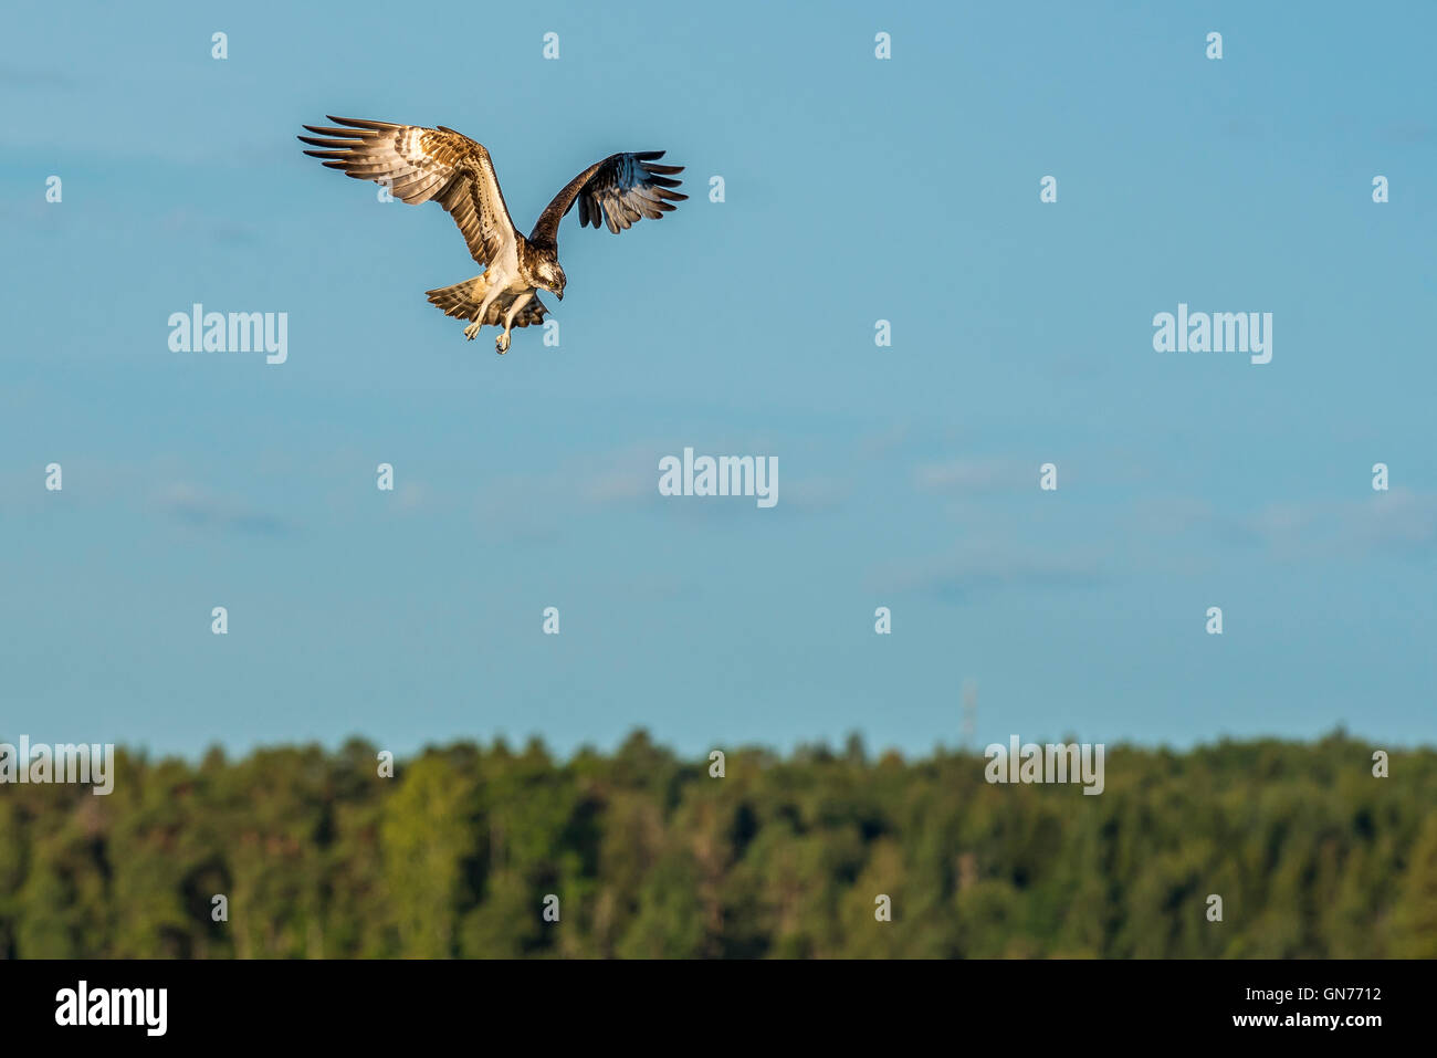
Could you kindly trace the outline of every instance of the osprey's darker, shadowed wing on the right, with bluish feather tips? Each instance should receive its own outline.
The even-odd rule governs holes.
[[[529,242],[558,246],[559,221],[573,208],[575,201],[579,203],[579,227],[585,224],[598,227],[602,217],[609,231],[619,231],[632,226],[639,217],[662,217],[675,208],[675,201],[688,198],[687,194],[673,190],[683,181],[671,177],[683,172],[684,167],[655,165],[654,162],[662,157],[662,151],[629,151],[611,154],[604,161],[595,162],[553,197],[547,208],[539,214],[539,223],[529,234]]]

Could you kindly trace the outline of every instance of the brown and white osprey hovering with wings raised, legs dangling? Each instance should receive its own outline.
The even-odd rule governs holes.
[[[549,309],[539,300],[539,290],[563,300],[559,221],[576,201],[579,227],[598,227],[602,217],[609,231],[618,233],[641,217],[662,217],[675,208],[674,201],[688,198],[673,190],[681,181],[671,177],[683,172],[683,165],[655,164],[662,151],[611,154],[565,184],[525,239],[509,218],[494,162],[483,144],[444,125],[391,125],[332,115],[329,119],[343,128],[305,125],[316,135],[299,137],[300,142],[320,148],[305,154],[355,180],[385,184],[410,204],[433,198],[454,217],[484,272],[425,293],[445,316],[473,321],[464,328],[470,341],[486,323],[503,326],[496,352],[509,352],[512,328],[543,321]]]

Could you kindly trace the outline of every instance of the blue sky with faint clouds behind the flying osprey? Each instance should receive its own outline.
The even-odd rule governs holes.
[[[10,4],[0,733],[924,752],[971,680],[980,745],[1433,742],[1437,9],[823,10]],[[693,197],[570,216],[560,346],[500,358],[326,114],[483,141],[523,231],[616,150]],[[194,302],[287,362],[171,352]],[[1272,362],[1155,352],[1180,302]],[[685,446],[777,506],[661,497]]]

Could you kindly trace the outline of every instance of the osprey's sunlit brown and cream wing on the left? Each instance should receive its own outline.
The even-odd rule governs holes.
[[[329,119],[345,128],[305,125],[318,135],[299,137],[300,142],[322,148],[305,154],[355,180],[388,184],[402,201],[437,200],[464,233],[474,260],[486,267],[514,252],[519,233],[483,144],[443,125],[389,125],[332,115]]]

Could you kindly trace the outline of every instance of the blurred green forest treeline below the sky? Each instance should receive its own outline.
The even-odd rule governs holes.
[[[1437,752],[1372,752],[1111,746],[1099,796],[856,739],[723,778],[644,733],[392,778],[362,742],[121,752],[109,796],[0,786],[0,954],[1434,957]]]

